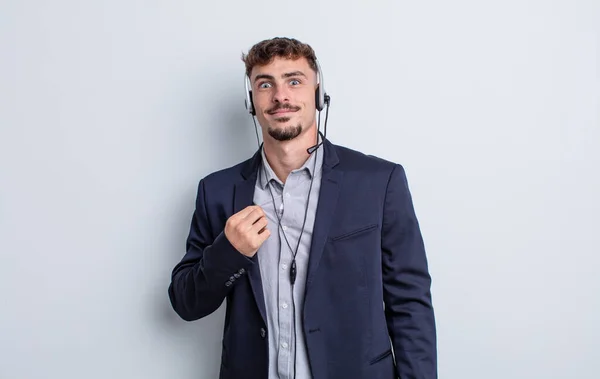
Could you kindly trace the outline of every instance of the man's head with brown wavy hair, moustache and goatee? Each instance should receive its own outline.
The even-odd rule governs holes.
[[[256,118],[278,141],[315,126],[317,62],[313,49],[291,38],[273,38],[242,55]]]

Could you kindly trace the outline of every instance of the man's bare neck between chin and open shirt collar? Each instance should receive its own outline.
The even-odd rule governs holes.
[[[277,141],[266,134],[263,136],[264,150],[275,175],[285,183],[288,175],[306,162],[310,154],[306,151],[317,144],[316,126],[304,131],[290,141]]]

